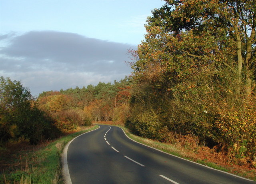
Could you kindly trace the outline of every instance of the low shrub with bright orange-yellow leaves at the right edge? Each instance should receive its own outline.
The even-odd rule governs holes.
[[[242,108],[227,104],[220,105],[220,118],[216,120],[216,127],[222,135],[228,138],[237,148],[234,152],[240,156],[255,155],[256,148],[256,97],[245,100]],[[240,148],[245,147],[243,152]]]

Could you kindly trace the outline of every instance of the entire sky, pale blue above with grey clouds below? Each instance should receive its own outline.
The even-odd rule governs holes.
[[[128,49],[144,40],[161,0],[0,0],[0,76],[33,96],[131,74]]]

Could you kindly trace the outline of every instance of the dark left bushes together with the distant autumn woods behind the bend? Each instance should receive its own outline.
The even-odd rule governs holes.
[[[0,78],[0,146],[46,139],[90,126],[124,124],[129,110],[130,78],[83,88],[42,92],[35,99],[21,81]]]

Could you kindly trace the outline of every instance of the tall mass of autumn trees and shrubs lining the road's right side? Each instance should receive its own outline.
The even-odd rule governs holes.
[[[191,135],[256,165],[256,4],[166,0],[131,51],[126,126],[172,142]]]

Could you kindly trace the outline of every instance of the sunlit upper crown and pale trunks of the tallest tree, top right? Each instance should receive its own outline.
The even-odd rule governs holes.
[[[158,38],[161,41],[158,44],[164,45],[169,35],[176,36],[178,40],[174,41],[178,42],[191,40],[184,42],[183,48],[176,48],[174,44],[172,50],[177,49],[180,54],[187,54],[194,59],[209,57],[214,62],[220,62],[236,71],[238,83],[242,82],[244,69],[246,94],[250,95],[252,80],[256,77],[255,12],[254,0],[166,0],[166,5],[155,10],[153,16],[148,18],[146,40]],[[222,52],[218,51],[233,55],[230,58],[233,62],[228,63],[221,56]]]

